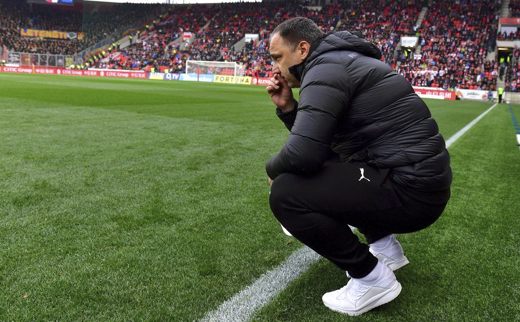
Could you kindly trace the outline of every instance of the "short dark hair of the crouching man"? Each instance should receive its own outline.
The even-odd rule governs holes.
[[[270,39],[275,34],[279,34],[292,50],[302,41],[313,44],[324,35],[314,21],[304,17],[295,17],[280,23],[272,31]]]

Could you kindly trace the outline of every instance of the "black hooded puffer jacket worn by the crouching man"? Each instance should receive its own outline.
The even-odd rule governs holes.
[[[392,181],[410,191],[448,191],[449,154],[437,123],[410,83],[380,61],[379,49],[348,32],[334,32],[289,70],[301,81],[300,102],[277,114],[291,131],[266,165],[313,174],[339,154],[343,162],[393,169]]]

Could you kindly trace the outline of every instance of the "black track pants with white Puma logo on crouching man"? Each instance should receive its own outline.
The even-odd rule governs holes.
[[[377,259],[368,243],[389,234],[412,233],[433,224],[446,203],[401,201],[388,169],[328,162],[316,175],[284,173],[271,187],[272,213],[290,233],[354,278],[368,275]]]

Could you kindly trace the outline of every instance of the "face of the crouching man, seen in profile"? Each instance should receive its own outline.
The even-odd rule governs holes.
[[[289,67],[304,61],[309,53],[309,47],[307,42],[301,42],[296,48],[291,48],[279,34],[274,34],[271,38],[269,53],[275,63],[272,72],[280,74],[291,88],[300,87],[300,82],[289,72]]]

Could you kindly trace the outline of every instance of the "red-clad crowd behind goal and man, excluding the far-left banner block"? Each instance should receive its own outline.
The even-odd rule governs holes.
[[[385,0],[378,4],[361,0],[333,1],[321,10],[309,9],[298,1],[283,5],[277,2],[215,5],[206,11],[203,21],[213,19],[205,28],[200,25],[186,28],[196,37],[189,45],[178,42],[168,48],[170,41],[185,30],[175,30],[181,23],[174,19],[171,24],[159,24],[166,31],[159,30],[125,49],[123,57],[131,57],[126,65],[112,59],[113,64],[108,66],[184,72],[188,59],[237,61],[244,66],[245,75],[269,76],[269,30],[285,19],[304,16],[313,19],[324,32],[360,31],[363,37],[379,46],[383,60],[413,85],[495,88],[498,65],[486,60],[488,49],[494,49],[495,43],[492,36],[496,33],[498,17],[495,2],[430,2],[422,25],[415,25],[424,5],[421,0],[403,3]],[[163,33],[169,36],[162,37]],[[245,33],[258,34],[258,39],[235,50]],[[421,54],[403,55],[403,51],[398,51],[395,55],[400,36],[414,34],[420,36]],[[115,56],[115,59],[120,58]]]

